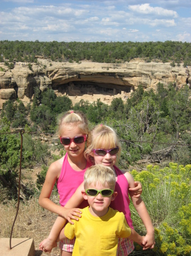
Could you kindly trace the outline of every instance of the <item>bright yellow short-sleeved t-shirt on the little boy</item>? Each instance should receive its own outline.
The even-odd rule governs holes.
[[[92,216],[89,207],[82,209],[82,218],[65,226],[65,236],[76,237],[73,256],[116,256],[118,237],[129,237],[131,230],[124,213],[109,208],[102,217]]]

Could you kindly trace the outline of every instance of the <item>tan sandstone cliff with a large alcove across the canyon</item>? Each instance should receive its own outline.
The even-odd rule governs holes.
[[[139,84],[148,90],[156,89],[158,82],[168,86],[170,82],[177,88],[185,85],[185,68],[172,68],[170,63],[145,63],[137,60],[123,64],[59,63],[38,59],[29,69],[27,63],[16,63],[9,70],[0,63],[0,106],[8,99],[20,98],[29,101],[34,88],[52,88],[58,96],[67,95],[73,103],[81,98],[90,102],[100,98],[110,104],[113,97],[126,99]],[[189,83],[191,84],[191,77]]]

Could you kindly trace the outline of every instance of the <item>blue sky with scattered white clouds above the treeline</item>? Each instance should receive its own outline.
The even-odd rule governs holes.
[[[191,42],[191,0],[0,0],[0,40]]]

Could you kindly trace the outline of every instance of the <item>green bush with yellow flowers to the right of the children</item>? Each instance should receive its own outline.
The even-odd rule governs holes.
[[[169,163],[161,169],[150,164],[131,174],[142,183],[142,199],[155,226],[153,255],[191,255],[191,164]],[[130,210],[135,230],[143,234],[145,228],[131,203]]]

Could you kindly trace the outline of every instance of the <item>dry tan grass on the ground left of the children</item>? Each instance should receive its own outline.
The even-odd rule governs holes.
[[[7,204],[0,204],[1,238],[10,237],[12,223],[16,214],[16,207],[17,203],[15,203],[15,201],[9,201]],[[20,203],[12,238],[33,238],[35,242],[35,256],[60,255],[60,249],[58,249],[58,247],[54,248],[50,254],[45,254],[39,250],[39,243],[48,236],[55,220],[56,214],[41,208],[36,198]]]

